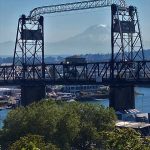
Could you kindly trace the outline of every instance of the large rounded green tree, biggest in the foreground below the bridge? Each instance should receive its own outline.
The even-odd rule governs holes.
[[[115,119],[114,111],[102,106],[44,100],[11,111],[4,121],[0,142],[10,145],[31,134],[61,149],[82,149],[87,143],[90,147],[98,132],[111,131]]]

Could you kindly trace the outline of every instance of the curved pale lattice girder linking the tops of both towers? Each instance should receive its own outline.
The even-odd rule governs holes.
[[[123,0],[86,0],[66,4],[42,6],[34,8],[32,11],[30,11],[29,18],[37,18],[40,15],[50,13],[108,7],[112,4],[117,4],[123,7],[125,2],[123,2]]]

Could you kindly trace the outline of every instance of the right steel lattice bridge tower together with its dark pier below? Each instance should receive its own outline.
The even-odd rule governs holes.
[[[134,6],[120,7],[116,4],[111,6],[111,79],[113,82],[110,85],[110,107],[117,110],[134,109],[134,85],[121,82],[117,76],[116,68],[120,68],[121,72],[127,73],[137,70],[138,66],[117,66],[117,62],[126,64],[126,62],[143,61],[144,51],[142,37],[139,25],[137,8]],[[128,74],[128,73],[127,73]],[[120,80],[120,83],[119,83]]]

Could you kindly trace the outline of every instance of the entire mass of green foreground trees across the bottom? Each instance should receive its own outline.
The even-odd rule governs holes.
[[[38,142],[43,144],[41,150],[149,150],[149,139],[131,129],[116,130],[115,122],[114,111],[100,105],[43,100],[8,114],[0,144],[2,149],[9,145],[20,149],[26,141],[23,150],[39,148]]]

